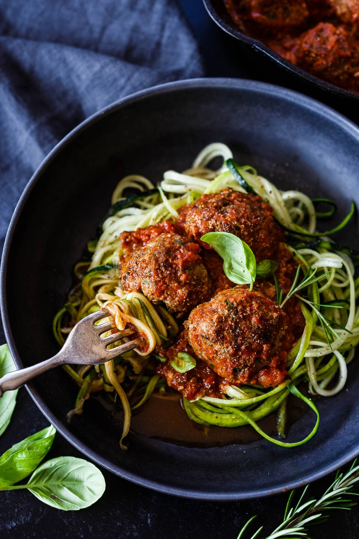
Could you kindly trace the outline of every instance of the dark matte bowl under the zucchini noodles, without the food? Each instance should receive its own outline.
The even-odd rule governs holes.
[[[175,82],[139,92],[91,116],[40,165],[11,220],[1,273],[1,309],[18,368],[57,351],[52,317],[71,286],[73,263],[109,206],[118,178],[136,172],[158,181],[183,170],[212,141],[234,150],[283,188],[359,204],[359,130],[333,110],[277,86],[235,79]],[[114,164],[116,170],[114,170]],[[323,224],[323,226],[326,226]],[[342,243],[355,247],[356,224]],[[264,496],[320,478],[359,453],[359,374],[349,366],[347,389],[318,403],[318,434],[284,449],[268,441],[191,448],[131,432],[119,450],[121,427],[93,399],[66,423],[76,389],[58,369],[27,388],[45,416],[82,453],[115,474],[199,499]],[[156,418],[153,418],[155,421]],[[288,441],[302,439],[306,413]]]

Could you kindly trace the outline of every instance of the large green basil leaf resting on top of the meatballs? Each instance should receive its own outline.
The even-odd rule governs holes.
[[[256,259],[251,248],[230,232],[207,232],[201,237],[223,258],[223,271],[237,285],[250,285],[256,278]]]

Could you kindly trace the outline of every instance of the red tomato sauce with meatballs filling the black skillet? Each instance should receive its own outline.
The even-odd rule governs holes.
[[[224,0],[239,29],[332,84],[359,93],[358,0]]]

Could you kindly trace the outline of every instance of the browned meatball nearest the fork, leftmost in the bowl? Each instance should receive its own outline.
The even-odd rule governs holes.
[[[179,234],[160,234],[125,259],[124,290],[142,291],[150,301],[163,301],[168,312],[183,316],[210,293],[200,250]]]

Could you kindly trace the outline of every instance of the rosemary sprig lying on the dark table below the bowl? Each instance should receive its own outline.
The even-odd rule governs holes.
[[[278,539],[279,537],[282,539],[287,537],[291,537],[291,539],[301,539],[302,537],[309,539],[307,535],[308,527],[325,522],[328,515],[323,514],[324,512],[330,509],[351,509],[351,507],[355,506],[356,502],[348,496],[359,495],[358,492],[353,492],[354,486],[359,481],[359,465],[357,462],[358,459],[355,459],[345,474],[338,470],[334,482],[318,500],[311,497],[309,500],[304,501],[308,490],[308,486],[306,486],[297,505],[294,507],[292,501],[295,490],[292,490],[285,508],[283,522],[263,539]],[[252,516],[244,524],[237,539],[244,539],[245,530],[255,518],[255,516]],[[263,526],[250,539],[259,539],[262,529]]]

